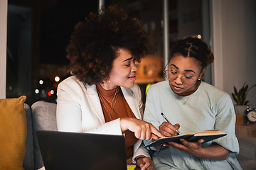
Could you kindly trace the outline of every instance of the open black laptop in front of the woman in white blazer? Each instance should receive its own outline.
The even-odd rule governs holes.
[[[124,136],[36,131],[46,170],[127,170]]]

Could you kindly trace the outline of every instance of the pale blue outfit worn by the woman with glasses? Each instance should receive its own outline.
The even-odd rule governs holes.
[[[202,81],[198,89],[188,97],[178,97],[171,90],[169,81],[150,86],[146,94],[144,120],[159,128],[166,121],[161,116],[164,113],[171,124],[181,125],[181,135],[202,130],[224,131],[227,136],[207,142],[203,147],[215,142],[228,149],[230,156],[227,159],[210,160],[167,147],[153,158],[156,169],[241,169],[235,157],[239,145],[235,137],[235,111],[230,96]],[[187,99],[186,105],[183,105]],[[144,141],[145,144],[149,142]]]

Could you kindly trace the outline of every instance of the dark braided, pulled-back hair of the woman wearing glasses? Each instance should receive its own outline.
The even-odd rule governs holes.
[[[210,50],[206,42],[198,38],[185,38],[178,40],[171,47],[171,54],[169,61],[172,57],[182,55],[183,57],[192,57],[201,63],[201,67],[205,68],[214,60],[213,52]]]

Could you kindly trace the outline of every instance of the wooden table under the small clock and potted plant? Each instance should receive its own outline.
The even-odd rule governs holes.
[[[256,123],[235,125],[235,135],[245,137],[256,137]]]

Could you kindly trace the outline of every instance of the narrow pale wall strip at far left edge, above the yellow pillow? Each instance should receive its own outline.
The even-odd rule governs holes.
[[[7,0],[0,1],[0,98],[6,98]]]

